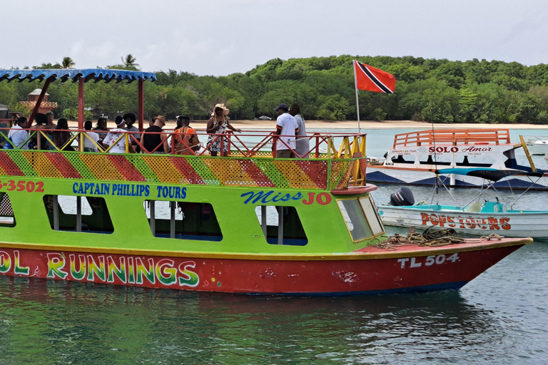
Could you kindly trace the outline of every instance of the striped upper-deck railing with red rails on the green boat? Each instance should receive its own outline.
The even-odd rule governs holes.
[[[29,140],[34,136],[36,147],[46,148],[38,144],[47,140],[46,145],[53,145],[51,150],[0,150],[0,174],[263,189],[334,190],[344,189],[348,185],[365,185],[365,133],[308,133],[309,158],[273,158],[275,147],[273,151],[272,145],[279,136],[265,131],[224,135],[208,135],[198,131],[201,150],[189,148],[188,155],[146,151],[138,140],[141,133],[137,132],[120,133],[118,139],[126,138],[126,146],[129,143],[138,145],[141,153],[111,153],[110,148],[103,150],[96,143],[93,144],[100,152],[82,152],[84,138],[91,140],[88,131],[68,130],[71,137],[62,146],[54,145],[51,132],[29,130]],[[0,129],[0,135],[7,138],[8,130]],[[163,138],[174,149],[182,135],[166,130]],[[209,136],[212,140],[208,142]],[[208,145],[214,143],[216,138],[220,143],[227,143],[228,157],[209,155]],[[340,142],[338,147],[335,142]]]

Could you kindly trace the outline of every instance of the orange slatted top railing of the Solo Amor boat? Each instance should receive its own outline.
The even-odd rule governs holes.
[[[397,134],[392,148],[434,144],[500,145],[505,143],[511,143],[510,133],[507,129],[438,129]]]

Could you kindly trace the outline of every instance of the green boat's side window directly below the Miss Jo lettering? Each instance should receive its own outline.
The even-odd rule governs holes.
[[[308,244],[295,207],[258,205],[255,213],[270,245],[305,246]]]

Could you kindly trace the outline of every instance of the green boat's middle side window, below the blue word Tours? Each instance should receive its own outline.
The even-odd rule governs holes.
[[[143,207],[154,237],[223,240],[217,216],[209,203],[145,200]]]

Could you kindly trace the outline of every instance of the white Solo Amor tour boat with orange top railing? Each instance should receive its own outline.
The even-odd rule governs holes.
[[[519,165],[518,150],[523,149],[528,165]],[[435,170],[449,168],[494,168],[536,172],[524,140],[510,141],[507,129],[438,129],[395,135],[385,159],[371,159],[367,180],[371,183],[434,185]],[[540,170],[539,170],[540,171]],[[545,174],[546,175],[546,174]],[[473,176],[441,175],[448,186],[477,187],[483,180]],[[514,175],[494,187],[547,190],[542,178],[531,185],[527,175]]]

